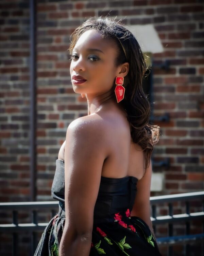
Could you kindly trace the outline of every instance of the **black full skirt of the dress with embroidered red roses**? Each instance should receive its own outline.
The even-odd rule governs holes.
[[[58,256],[65,218],[54,216],[45,228],[34,256]],[[90,256],[160,256],[149,226],[129,209],[116,213],[109,222],[94,222]]]

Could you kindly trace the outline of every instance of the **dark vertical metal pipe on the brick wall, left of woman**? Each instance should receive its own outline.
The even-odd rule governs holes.
[[[35,43],[36,43],[36,2],[30,0],[30,171],[31,171],[31,201],[36,199],[36,56],[35,56]]]

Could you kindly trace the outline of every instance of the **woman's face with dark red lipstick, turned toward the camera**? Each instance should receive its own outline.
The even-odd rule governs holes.
[[[72,51],[70,75],[75,93],[97,96],[110,90],[119,70],[115,66],[116,57],[114,40],[103,39],[95,29],[84,32]],[[74,75],[80,75],[86,81],[76,81]]]

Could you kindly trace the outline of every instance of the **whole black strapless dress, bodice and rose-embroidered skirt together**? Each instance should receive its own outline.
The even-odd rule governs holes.
[[[131,216],[137,178],[113,179],[101,176],[94,209],[90,256],[159,256],[159,249],[149,226]],[[34,256],[58,256],[65,224],[64,161],[56,160],[52,197],[59,201],[59,212],[45,228]]]

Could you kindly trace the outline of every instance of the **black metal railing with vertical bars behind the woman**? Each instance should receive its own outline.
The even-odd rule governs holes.
[[[199,200],[202,202],[202,210],[200,212],[190,213],[190,201]],[[185,202],[185,213],[173,214],[173,203],[174,202]],[[152,224],[156,233],[157,225],[168,224],[168,236],[158,237],[157,243],[168,244],[168,256],[173,255],[173,244],[176,242],[184,243],[184,254],[188,255],[189,244],[188,241],[201,240],[203,243],[204,239],[204,191],[183,193],[167,196],[155,196],[150,198],[152,205]],[[168,215],[156,216],[156,210],[158,204],[168,203]],[[12,224],[0,224],[0,233],[10,232],[13,235],[12,253],[18,255],[18,234],[20,232],[28,231],[31,233],[31,252],[33,255],[37,246],[37,233],[42,232],[47,223],[38,223],[38,212],[40,210],[47,210],[51,212],[51,216],[54,216],[58,209],[58,201],[48,202],[16,202],[16,203],[0,203],[0,211],[11,211],[13,222]],[[31,223],[18,223],[18,211],[31,211],[32,221]],[[203,225],[202,232],[199,234],[190,234],[190,222],[193,220],[201,220]],[[186,225],[185,234],[183,236],[174,236],[173,225],[176,223],[184,222]],[[187,242],[187,243],[186,243]],[[203,249],[202,249],[203,250]],[[202,252],[204,255],[204,252]]]

